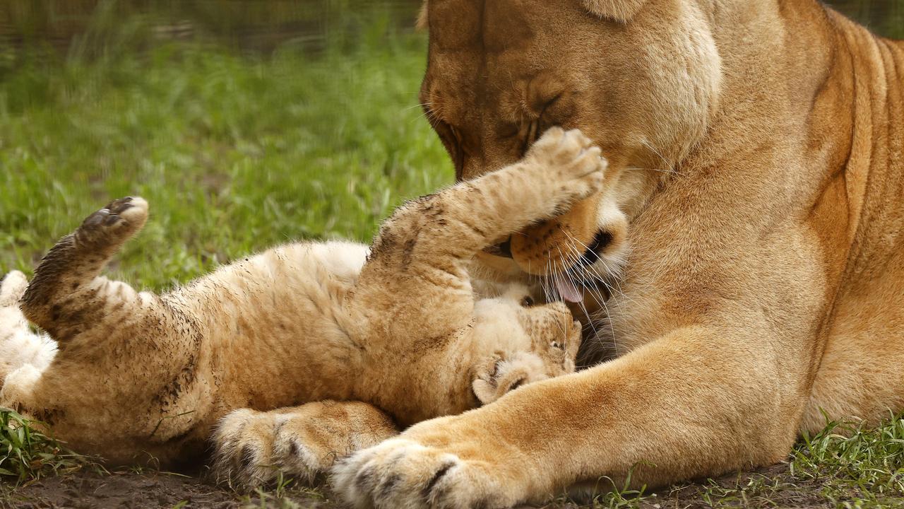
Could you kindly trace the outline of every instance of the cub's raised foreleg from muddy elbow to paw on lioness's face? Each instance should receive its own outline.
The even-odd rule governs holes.
[[[410,250],[385,252],[402,242],[469,259],[596,193],[606,167],[600,149],[579,130],[551,128],[517,163],[400,206],[381,226],[373,256],[405,255]]]

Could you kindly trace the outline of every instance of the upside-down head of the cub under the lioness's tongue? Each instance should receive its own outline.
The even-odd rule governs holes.
[[[471,389],[480,404],[523,384],[575,370],[580,323],[565,304],[538,304],[534,299],[515,284],[497,297],[476,302]]]

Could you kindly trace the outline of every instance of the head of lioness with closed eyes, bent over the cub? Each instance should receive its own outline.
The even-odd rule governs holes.
[[[616,273],[627,219],[702,138],[718,101],[720,58],[698,1],[428,0],[420,23],[421,103],[458,179],[521,158],[551,126],[583,131],[608,158],[598,196],[513,235],[514,264],[559,282]]]

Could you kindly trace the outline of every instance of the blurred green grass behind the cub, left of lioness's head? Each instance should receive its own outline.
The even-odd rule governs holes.
[[[292,239],[369,239],[393,206],[453,176],[418,106],[425,37],[387,37],[374,18],[353,47],[315,54],[128,51],[143,30],[124,23],[99,56],[7,58],[0,273],[30,273],[84,216],[127,195],[145,197],[151,219],[112,274],[139,287]]]

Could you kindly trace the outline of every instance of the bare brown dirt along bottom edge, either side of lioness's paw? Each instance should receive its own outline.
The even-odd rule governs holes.
[[[704,507],[835,507],[819,495],[819,485],[791,483],[787,466],[753,473],[727,475],[705,484],[673,487],[642,500],[600,497],[597,504],[560,499],[542,509],[638,507],[640,509],[697,509]],[[200,508],[304,507],[343,509],[325,489],[289,487],[278,492],[242,495],[205,484],[200,478],[164,473],[80,473],[50,477],[14,490],[0,502],[16,508]],[[536,507],[536,506],[525,506]]]

